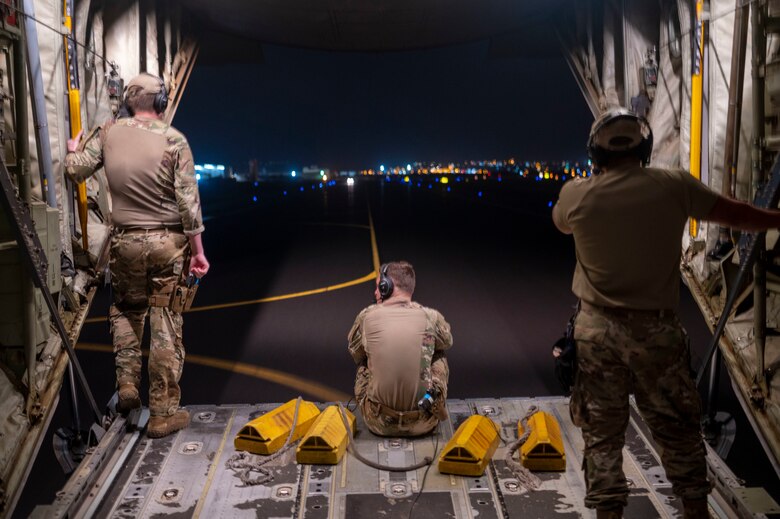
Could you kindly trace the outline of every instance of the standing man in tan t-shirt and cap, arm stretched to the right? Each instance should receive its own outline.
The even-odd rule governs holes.
[[[558,229],[574,235],[580,311],[570,411],[585,440],[585,504],[599,519],[622,517],[628,502],[622,449],[630,393],[685,518],[709,518],[701,404],[675,313],[681,238],[691,217],[744,230],[780,225],[780,211],[722,197],[684,171],[646,167],[652,147],[647,121],[607,111],[588,139],[601,172],[567,182],[553,209]]]

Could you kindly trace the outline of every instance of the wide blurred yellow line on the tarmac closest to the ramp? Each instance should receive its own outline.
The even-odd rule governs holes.
[[[76,349],[85,351],[98,351],[104,353],[113,353],[114,348],[106,344],[95,343],[78,343]],[[143,350],[144,355],[148,355],[147,350]],[[204,355],[195,355],[187,353],[184,356],[184,362],[189,364],[198,364],[209,368],[221,369],[237,373],[239,375],[246,375],[248,377],[259,378],[261,380],[267,380],[281,386],[287,386],[295,389],[298,392],[306,393],[315,397],[317,400],[324,402],[346,402],[351,395],[342,393],[338,389],[333,389],[317,382],[311,382],[304,378],[278,371],[275,369],[261,368],[253,364],[247,364],[245,362],[237,362],[232,360],[217,359],[214,357],[206,357]]]

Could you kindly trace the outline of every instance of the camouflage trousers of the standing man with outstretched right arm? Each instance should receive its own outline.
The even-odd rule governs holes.
[[[687,334],[677,316],[583,302],[574,338],[578,372],[570,412],[585,441],[585,505],[627,504],[622,450],[630,393],[659,447],[673,492],[685,499],[705,497],[711,486],[701,402],[691,377]]]

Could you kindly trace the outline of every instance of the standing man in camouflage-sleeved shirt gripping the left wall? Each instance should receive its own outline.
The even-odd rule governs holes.
[[[141,74],[128,85],[132,118],[111,121],[83,145],[68,142],[67,172],[83,181],[105,167],[112,199],[111,330],[119,410],[140,407],[141,339],[149,314],[149,410],[147,434],[182,429],[189,413],[179,409],[184,363],[181,308],[174,293],[189,273],[209,268],[203,252],[198,184],[186,138],[161,119],[167,104],[162,80]]]

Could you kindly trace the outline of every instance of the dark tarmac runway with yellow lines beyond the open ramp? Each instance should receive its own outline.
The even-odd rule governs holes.
[[[211,271],[185,315],[182,404],[285,402],[298,395],[348,400],[355,367],[347,332],[372,302],[378,263],[399,259],[417,272],[414,299],[452,326],[451,397],[561,394],[550,348],[575,304],[573,241],[550,219],[561,183],[459,178],[446,185],[432,176],[408,183],[360,177],[354,186],[340,179],[322,187],[301,180],[202,183]],[[698,367],[711,335],[682,292],[680,318]],[[109,300],[102,290],[77,346],[99,403],[114,391]],[[723,378],[722,405],[738,415],[728,461],[749,484],[774,488],[776,481],[756,481],[773,478],[755,470],[761,460],[740,473],[757,444]],[[52,429],[69,423],[64,392],[59,408]],[[54,463],[45,443],[16,515],[51,501],[64,482]]]

